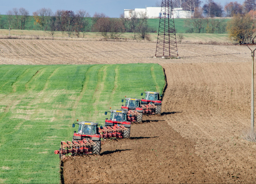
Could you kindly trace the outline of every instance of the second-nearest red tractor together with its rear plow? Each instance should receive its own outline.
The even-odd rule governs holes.
[[[131,122],[128,120],[127,111],[111,110],[110,119],[106,118],[103,129],[100,129],[103,139],[130,138]],[[105,112],[107,115],[108,112]]]

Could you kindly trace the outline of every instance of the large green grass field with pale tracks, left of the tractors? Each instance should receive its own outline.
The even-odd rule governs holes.
[[[0,65],[0,183],[59,183],[54,150],[76,119],[103,124],[125,95],[164,86],[158,64]]]

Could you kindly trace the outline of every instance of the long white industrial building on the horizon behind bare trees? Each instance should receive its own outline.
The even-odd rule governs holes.
[[[174,8],[173,18],[191,18],[193,15],[193,11],[190,10],[182,10],[182,8]],[[161,7],[146,7],[146,8],[136,8],[134,10],[125,9],[124,15],[125,18],[131,18],[133,13],[136,13],[138,17],[140,17],[141,13],[146,13],[148,18],[159,18],[161,15]]]

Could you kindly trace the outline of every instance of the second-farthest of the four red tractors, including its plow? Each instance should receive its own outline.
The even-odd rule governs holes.
[[[124,99],[122,99],[122,102],[124,102]],[[138,123],[142,123],[143,109],[140,105],[140,99],[126,98],[125,106],[122,105],[121,109],[123,111],[127,111],[128,121],[137,121]]]

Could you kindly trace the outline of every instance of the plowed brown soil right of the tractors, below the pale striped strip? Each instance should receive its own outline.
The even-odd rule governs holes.
[[[162,116],[133,124],[131,139],[64,163],[65,183],[255,183],[250,63],[163,64]]]

